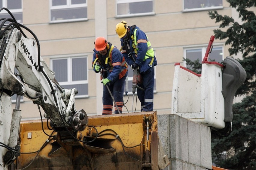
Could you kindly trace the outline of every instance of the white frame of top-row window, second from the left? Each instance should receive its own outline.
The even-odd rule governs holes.
[[[88,20],[88,4],[86,0],[86,3],[83,4],[71,4],[72,0],[66,0],[67,4],[66,5],[56,5],[56,6],[52,6],[52,0],[49,1],[50,4],[50,15],[49,15],[49,19],[50,19],[50,23],[62,23],[62,22],[77,22],[77,21],[87,21]],[[84,6],[83,6],[84,5]],[[56,10],[56,9],[72,9],[72,8],[79,8],[79,7],[87,7],[87,18],[76,18],[76,19],[62,19],[62,20],[51,20],[51,11],[52,10]]]

